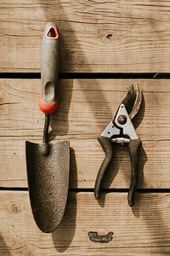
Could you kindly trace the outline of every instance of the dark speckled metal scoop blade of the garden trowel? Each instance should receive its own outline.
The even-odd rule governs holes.
[[[69,188],[68,141],[48,144],[26,142],[26,166],[31,209],[37,227],[53,232],[65,212]],[[46,153],[45,153],[46,152]]]

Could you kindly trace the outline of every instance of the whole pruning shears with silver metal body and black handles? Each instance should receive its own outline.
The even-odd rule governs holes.
[[[135,84],[134,88],[132,84],[127,92],[127,96],[124,98],[121,105],[117,109],[114,119],[111,120],[111,123],[105,128],[105,131],[103,131],[98,137],[99,143],[105,152],[105,159],[99,168],[98,176],[94,186],[94,195],[96,199],[99,198],[101,183],[105,175],[105,171],[112,159],[112,143],[121,143],[122,145],[124,143],[128,143],[132,175],[127,198],[129,206],[133,207],[134,205],[134,196],[139,179],[138,152],[142,143],[134,129],[131,119],[133,119],[136,113],[139,112],[141,102],[142,92],[139,90],[139,85]]]

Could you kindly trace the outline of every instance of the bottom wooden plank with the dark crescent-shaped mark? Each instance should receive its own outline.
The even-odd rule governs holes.
[[[163,255],[170,253],[169,194],[137,194],[127,206],[126,193],[96,201],[92,193],[70,193],[58,230],[43,234],[34,223],[27,192],[1,191],[0,255]],[[88,232],[108,243],[89,240]]]

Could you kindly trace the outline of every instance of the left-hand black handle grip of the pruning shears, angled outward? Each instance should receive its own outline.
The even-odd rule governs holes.
[[[99,192],[100,192],[102,179],[105,175],[105,170],[107,169],[107,166],[111,162],[111,158],[112,158],[112,154],[113,154],[111,138],[99,136],[98,140],[99,140],[99,143],[101,144],[101,147],[103,148],[103,150],[105,152],[105,159],[103,160],[103,162],[99,168],[98,176],[96,178],[96,182],[95,182],[95,186],[94,186],[94,195],[95,195],[96,199],[99,198]]]

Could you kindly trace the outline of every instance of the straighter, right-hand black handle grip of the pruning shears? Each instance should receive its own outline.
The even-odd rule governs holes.
[[[138,180],[139,180],[138,151],[141,145],[142,143],[140,139],[131,140],[130,143],[128,144],[129,155],[131,160],[131,168],[132,168],[131,184],[130,184],[130,189],[128,191],[128,205],[130,207],[133,207],[134,205],[135,191],[138,186]]]

